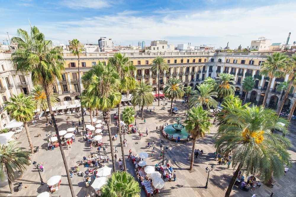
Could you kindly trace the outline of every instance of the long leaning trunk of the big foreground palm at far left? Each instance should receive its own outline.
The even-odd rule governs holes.
[[[69,167],[68,167],[66,156],[65,156],[64,149],[63,149],[63,146],[62,146],[62,140],[61,140],[61,137],[59,136],[59,130],[57,128],[57,123],[55,121],[54,114],[52,112],[52,104],[50,102],[50,93],[49,93],[50,90],[49,90],[47,84],[44,85],[44,90],[45,90],[45,93],[46,93],[46,100],[47,100],[47,104],[48,104],[48,108],[49,108],[49,113],[50,113],[50,115],[52,117],[52,124],[54,126],[54,130],[55,130],[56,135],[57,135],[57,140],[59,142],[59,149],[61,151],[63,162],[64,162],[64,165],[65,165],[65,170],[66,170],[66,174],[67,174],[67,178],[68,178],[68,183],[69,183],[71,195],[72,195],[72,197],[75,197],[72,181],[71,181],[71,178],[70,178]]]

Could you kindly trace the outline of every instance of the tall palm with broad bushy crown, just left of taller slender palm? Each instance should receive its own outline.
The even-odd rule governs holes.
[[[87,71],[81,79],[91,106],[94,106],[103,112],[103,118],[109,133],[113,172],[115,172],[115,157],[110,128],[110,110],[115,108],[121,100],[121,93],[118,92],[118,85],[120,82],[118,72],[110,63],[105,66],[102,62],[99,62],[96,66],[93,66]]]

